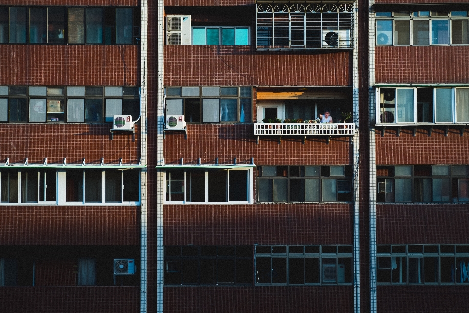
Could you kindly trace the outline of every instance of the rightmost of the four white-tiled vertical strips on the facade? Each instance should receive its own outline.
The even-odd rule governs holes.
[[[375,10],[369,1],[368,21],[368,103],[369,103],[369,219],[370,219],[370,313],[376,313],[376,91],[375,91]]]

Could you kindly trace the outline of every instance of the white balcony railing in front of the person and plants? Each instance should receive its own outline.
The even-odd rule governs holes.
[[[353,123],[255,123],[254,135],[353,135]]]

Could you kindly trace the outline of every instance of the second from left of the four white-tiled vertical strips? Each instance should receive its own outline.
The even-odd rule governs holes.
[[[164,122],[164,67],[163,48],[165,35],[164,1],[158,0],[157,8],[157,44],[156,44],[156,108],[158,134],[156,138],[156,161],[157,165],[163,165],[163,122]],[[165,196],[165,173],[157,172],[156,187],[156,311],[163,313],[163,269],[164,269],[164,247],[163,247],[163,197]]]

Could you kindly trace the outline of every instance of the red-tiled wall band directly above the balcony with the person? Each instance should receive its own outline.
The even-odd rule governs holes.
[[[165,86],[349,86],[351,52],[256,52],[255,46],[165,45]]]

